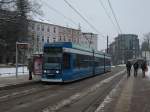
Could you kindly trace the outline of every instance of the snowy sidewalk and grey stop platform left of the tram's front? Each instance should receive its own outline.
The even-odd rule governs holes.
[[[27,67],[19,67],[18,68],[18,77],[16,77],[16,68],[0,68],[0,89],[24,85],[24,84],[32,84],[40,81],[40,76],[33,75],[33,80],[28,80],[29,73]]]

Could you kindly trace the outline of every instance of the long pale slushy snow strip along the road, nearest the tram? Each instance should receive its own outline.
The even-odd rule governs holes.
[[[86,96],[87,94],[97,90],[98,88],[100,88],[103,84],[105,83],[108,83],[110,82],[113,78],[119,76],[119,75],[122,75],[123,73],[125,73],[125,70],[107,78],[107,79],[104,79],[103,81],[100,81],[98,84],[95,84],[94,86],[82,91],[82,92],[79,92],[79,93],[76,93],[75,95],[72,95],[70,96],[68,99],[64,99],[62,101],[60,101],[60,103],[57,103],[56,105],[53,105],[53,106],[49,106],[45,109],[43,109],[42,112],[55,112],[57,110],[59,110],[60,108],[66,106],[66,105],[69,105],[70,103]]]

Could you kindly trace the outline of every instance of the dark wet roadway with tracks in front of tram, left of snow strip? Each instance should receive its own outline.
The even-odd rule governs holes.
[[[89,86],[108,79],[122,69],[69,84],[28,85],[0,91],[0,108],[3,112],[41,112],[43,108],[56,104]],[[12,94],[11,94],[12,93]],[[5,105],[8,105],[7,107]]]

